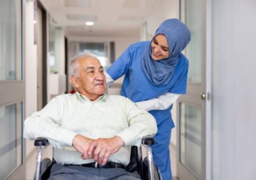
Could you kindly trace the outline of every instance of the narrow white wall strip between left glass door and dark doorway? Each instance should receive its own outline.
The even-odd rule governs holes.
[[[24,1],[25,16],[25,118],[37,111],[37,46],[33,43],[33,3]],[[33,172],[28,162],[35,161],[33,141],[25,140],[26,179],[32,179]],[[33,163],[35,165],[35,163]]]

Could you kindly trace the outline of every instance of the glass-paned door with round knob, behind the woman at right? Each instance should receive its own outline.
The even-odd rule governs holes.
[[[191,30],[184,51],[189,59],[187,94],[178,100],[178,157],[180,180],[210,179],[210,1],[181,0],[180,17]]]

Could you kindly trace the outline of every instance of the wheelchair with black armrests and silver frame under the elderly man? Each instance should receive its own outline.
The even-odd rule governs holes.
[[[138,172],[143,180],[162,180],[157,166],[153,163],[152,150],[150,145],[155,144],[152,137],[143,137],[142,145],[146,150],[146,157],[142,158],[142,148],[132,146],[130,163],[125,167],[128,172]],[[53,148],[53,159],[45,158],[42,160],[42,153],[49,145],[46,138],[37,138],[34,145],[38,147],[35,180],[46,180],[50,175],[50,168],[56,161],[54,160],[55,148]]]

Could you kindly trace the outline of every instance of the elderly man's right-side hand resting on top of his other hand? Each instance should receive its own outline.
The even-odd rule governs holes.
[[[124,146],[124,141],[118,136],[99,138],[91,142],[88,148],[88,156],[99,164],[105,165],[109,156],[117,152],[122,146]]]

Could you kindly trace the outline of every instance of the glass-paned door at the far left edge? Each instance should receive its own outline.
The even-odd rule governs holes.
[[[0,4],[0,179],[25,179],[22,1]]]

